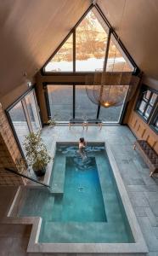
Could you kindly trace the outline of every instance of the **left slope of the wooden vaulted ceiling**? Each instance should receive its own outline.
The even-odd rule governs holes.
[[[0,2],[0,96],[37,73],[91,4],[90,0]]]

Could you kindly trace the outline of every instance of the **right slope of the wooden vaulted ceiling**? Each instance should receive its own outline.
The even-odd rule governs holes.
[[[158,79],[158,1],[98,0],[98,3],[138,67]]]

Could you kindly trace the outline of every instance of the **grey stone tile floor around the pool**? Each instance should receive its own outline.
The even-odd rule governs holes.
[[[79,137],[85,137],[87,143],[88,141],[105,141],[110,144],[144,239],[149,247],[149,256],[158,256],[158,177],[150,177],[150,171],[145,165],[144,160],[137,151],[133,150],[133,143],[135,141],[133,133],[127,126],[120,125],[107,125],[101,131],[99,131],[98,127],[93,126],[88,127],[87,131],[82,130],[82,126],[73,126],[71,131],[68,129],[68,126],[55,126],[54,128],[47,126],[42,130],[42,138],[47,144],[50,154],[54,150],[56,141],[78,141]],[[13,195],[14,192],[10,188],[3,188],[3,193],[0,193],[0,201],[3,200],[4,195],[6,195],[6,198],[9,198],[11,193]],[[6,203],[5,201],[1,203],[3,206],[0,208],[1,218],[5,211],[7,211],[8,204],[9,200]],[[4,207],[5,205],[6,207]],[[8,239],[4,235],[0,233],[0,241],[2,240],[0,242],[0,249],[2,243],[6,242],[8,244],[11,242],[10,239],[13,239],[12,236],[9,236]],[[20,247],[25,247],[26,241],[24,241],[24,245],[22,243],[23,236],[20,239]],[[19,247],[19,243],[14,245],[15,252],[16,247]],[[6,248],[6,253],[2,255],[14,255],[10,252],[8,246]],[[25,254],[25,249],[21,252],[21,254],[16,253],[15,255],[29,255]]]

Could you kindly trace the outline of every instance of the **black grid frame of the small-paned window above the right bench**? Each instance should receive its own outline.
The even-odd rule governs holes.
[[[148,90],[150,90],[150,97],[149,97],[149,99],[145,99],[145,98],[144,98],[144,94],[145,94]],[[156,100],[155,100],[155,103],[154,103],[153,105],[151,105],[150,100],[151,100],[151,97],[153,96],[154,93],[157,95],[157,98],[156,98]],[[146,103],[146,106],[145,106],[145,108],[144,108],[144,112],[141,112],[141,111],[138,109],[138,108],[140,107],[140,105],[141,105],[142,102],[145,102],[145,103]],[[144,122],[148,124],[148,123],[150,123],[150,119],[152,118],[152,115],[153,115],[153,113],[155,112],[155,106],[156,106],[157,102],[158,102],[158,91],[155,90],[155,89],[153,89],[153,88],[151,88],[150,86],[147,86],[146,84],[142,84],[142,86],[141,86],[141,88],[140,88],[139,95],[138,95],[138,101],[136,102],[136,107],[135,107],[134,110],[135,110],[136,113],[138,113],[138,115],[139,115],[142,119],[144,119]],[[145,112],[146,112],[146,110],[147,110],[147,108],[148,108],[149,106],[150,106],[150,108],[151,108],[151,111],[150,111],[149,116],[146,117],[146,116],[145,116]]]

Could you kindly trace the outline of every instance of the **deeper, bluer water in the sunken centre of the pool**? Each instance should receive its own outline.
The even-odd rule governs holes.
[[[64,194],[55,196],[52,219],[63,222],[106,221],[94,157],[83,162],[78,157],[66,157]]]

